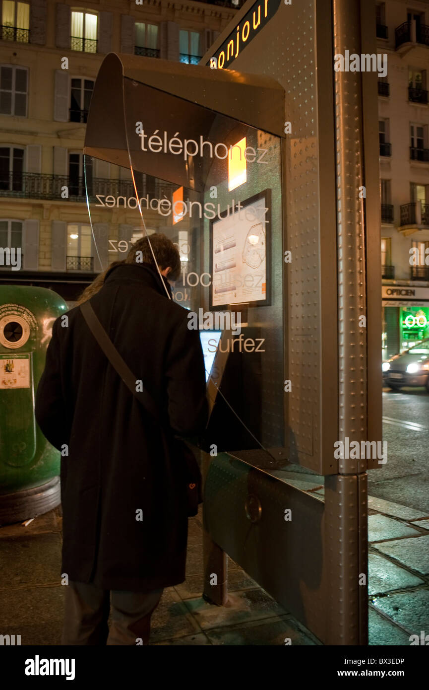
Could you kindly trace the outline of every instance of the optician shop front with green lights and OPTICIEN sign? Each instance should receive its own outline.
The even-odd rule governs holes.
[[[429,288],[382,288],[382,356],[389,359],[429,338]]]

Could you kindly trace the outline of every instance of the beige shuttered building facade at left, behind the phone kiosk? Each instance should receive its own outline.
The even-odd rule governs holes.
[[[0,266],[0,281],[52,287],[72,301],[94,273],[126,256],[130,242],[141,236],[129,203],[135,197],[130,171],[83,157],[101,61],[109,52],[122,52],[198,63],[240,5],[241,0],[0,1],[0,246],[21,248],[21,269]],[[148,231],[162,231],[166,219],[150,208],[150,200],[171,199],[172,185],[160,186],[145,175],[137,183],[149,206]],[[110,198],[126,201],[112,208],[103,201]],[[183,233],[177,232],[182,244]]]

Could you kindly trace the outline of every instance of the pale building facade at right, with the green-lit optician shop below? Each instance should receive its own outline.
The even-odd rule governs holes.
[[[429,3],[377,3],[383,358],[429,337]]]

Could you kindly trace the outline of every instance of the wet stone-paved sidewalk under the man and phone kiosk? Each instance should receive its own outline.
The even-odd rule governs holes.
[[[374,497],[368,507],[370,644],[409,645],[411,634],[429,631],[429,515]],[[186,581],[164,591],[150,644],[320,644],[230,559],[228,605],[203,600],[201,520],[201,511],[190,518]],[[0,564],[0,634],[59,644],[61,510],[0,528]]]

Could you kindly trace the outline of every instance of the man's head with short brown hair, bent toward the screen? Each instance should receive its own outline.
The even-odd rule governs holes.
[[[179,250],[162,233],[150,235],[149,239],[148,237],[138,239],[128,252],[126,264],[149,264],[151,268],[157,270],[151,247],[162,275],[166,275],[169,280],[177,280],[180,275]],[[170,270],[167,270],[168,268]]]

